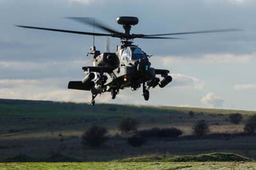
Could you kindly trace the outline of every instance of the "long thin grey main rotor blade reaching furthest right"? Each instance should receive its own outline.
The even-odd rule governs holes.
[[[191,35],[191,34],[201,34],[201,33],[223,33],[223,32],[233,32],[233,31],[243,31],[242,29],[230,28],[230,29],[212,29],[207,31],[192,31],[192,32],[182,32],[182,33],[167,33],[167,34],[157,34],[157,35],[143,35],[147,36],[164,36],[164,35]]]

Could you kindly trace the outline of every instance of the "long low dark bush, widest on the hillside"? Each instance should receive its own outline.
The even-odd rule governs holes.
[[[151,128],[141,130],[138,135],[142,137],[178,137],[182,135],[182,131],[179,128]]]

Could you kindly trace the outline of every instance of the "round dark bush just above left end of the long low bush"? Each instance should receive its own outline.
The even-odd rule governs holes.
[[[122,118],[118,125],[118,129],[122,133],[128,134],[129,132],[136,131],[138,128],[138,121],[135,118]]]

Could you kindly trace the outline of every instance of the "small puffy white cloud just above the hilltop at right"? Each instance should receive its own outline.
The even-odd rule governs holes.
[[[211,108],[223,107],[224,102],[225,100],[223,100],[223,98],[216,96],[214,93],[207,93],[207,95],[201,99],[202,104]]]

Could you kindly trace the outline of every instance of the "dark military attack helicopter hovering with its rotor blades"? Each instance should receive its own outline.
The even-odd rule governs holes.
[[[97,95],[104,92],[111,92],[111,96],[115,99],[116,94],[120,89],[131,88],[133,91],[141,87],[143,89],[143,97],[145,100],[149,99],[149,89],[164,88],[167,84],[172,82],[172,77],[168,75],[169,70],[157,69],[151,66],[149,62],[150,56],[140,49],[140,47],[133,45],[134,38],[143,39],[182,39],[174,37],[166,37],[167,35],[188,35],[199,33],[220,33],[228,31],[241,31],[239,29],[216,29],[208,31],[193,31],[182,33],[166,33],[155,35],[131,34],[131,26],[138,24],[137,17],[118,17],[116,22],[123,26],[124,33],[115,31],[104,24],[92,18],[84,17],[68,17],[90,26],[97,27],[106,33],[89,33],[81,31],[69,31],[63,29],[51,29],[45,27],[31,27],[31,26],[18,26],[29,29],[41,29],[47,31],[58,31],[63,33],[73,33],[79,35],[92,35],[93,47],[90,48],[88,54],[92,54],[93,66],[84,66],[83,71],[86,74],[82,81],[70,81],[68,89],[79,89],[92,92],[92,105],[95,104]],[[93,29],[94,30],[94,29]],[[103,52],[100,53],[94,46],[94,36],[110,36],[120,38],[122,45],[116,47],[116,52]],[[87,55],[88,56],[88,55]],[[157,75],[163,77],[160,80]]]

